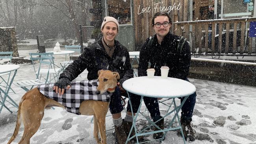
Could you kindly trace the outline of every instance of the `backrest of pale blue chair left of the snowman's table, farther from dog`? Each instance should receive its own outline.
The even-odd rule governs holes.
[[[30,55],[30,60],[32,61],[32,65],[33,65],[33,68],[34,68],[34,71],[35,71],[35,61],[37,60],[45,60],[45,59],[48,59],[47,57],[44,57],[43,55],[49,55],[51,56],[50,59],[48,59],[54,66],[54,57],[52,56],[53,55],[53,52],[45,52],[45,53],[29,53]],[[42,57],[43,56],[43,57]],[[52,66],[52,65],[51,65]],[[41,65],[39,66],[39,68],[41,68]],[[35,71],[36,72],[36,71]]]

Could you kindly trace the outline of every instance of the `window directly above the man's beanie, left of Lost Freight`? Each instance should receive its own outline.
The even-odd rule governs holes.
[[[107,15],[117,19],[119,24],[132,24],[131,0],[107,0]]]

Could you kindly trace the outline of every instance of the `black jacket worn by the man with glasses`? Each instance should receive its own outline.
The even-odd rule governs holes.
[[[138,75],[147,76],[148,63],[150,68],[156,70],[155,76],[161,76],[161,66],[168,66],[168,77],[185,80],[189,73],[189,66],[191,61],[191,54],[188,42],[182,48],[182,52],[177,51],[180,37],[169,32],[161,45],[157,42],[157,37],[154,35],[151,46],[148,46],[147,39],[143,44],[139,54]]]

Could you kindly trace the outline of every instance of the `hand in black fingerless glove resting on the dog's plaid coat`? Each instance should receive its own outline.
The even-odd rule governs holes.
[[[56,83],[54,83],[54,87],[53,90],[55,90],[55,92],[60,95],[64,94],[65,88],[68,90],[70,89],[71,82],[68,78],[62,78],[59,79]]]

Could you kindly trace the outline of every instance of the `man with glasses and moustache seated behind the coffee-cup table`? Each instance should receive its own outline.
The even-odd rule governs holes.
[[[187,41],[185,41],[182,48],[178,50],[178,45],[181,39],[177,35],[171,33],[171,26],[172,21],[167,13],[155,13],[154,17],[152,18],[152,27],[156,34],[149,37],[141,47],[139,54],[138,76],[147,76],[148,64],[150,63],[150,68],[154,68],[156,70],[155,76],[161,76],[161,66],[168,66],[170,68],[168,77],[188,81],[187,76],[191,61],[189,44]],[[193,124],[191,121],[196,96],[197,94],[194,93],[187,98],[181,112],[182,130],[184,132],[185,139],[189,138],[189,141],[195,140],[195,130],[192,128]],[[147,97],[144,97],[144,101],[145,98]],[[139,99],[139,97],[132,98],[133,109],[139,105]],[[148,110],[151,116],[155,116],[153,119],[155,122],[161,118],[157,98],[147,99],[150,99],[148,101],[152,102],[150,105],[154,105],[154,111],[150,111],[150,109]],[[184,97],[181,98],[181,102],[183,100]],[[163,129],[164,120],[160,120],[157,125]],[[158,129],[154,127],[154,130]],[[156,133],[154,138],[161,138],[162,135],[163,133]]]

